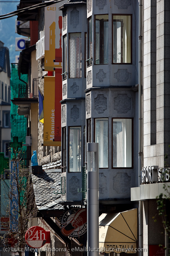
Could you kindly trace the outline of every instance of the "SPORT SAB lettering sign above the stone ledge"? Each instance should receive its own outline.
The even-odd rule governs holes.
[[[170,168],[159,168],[157,165],[143,167],[141,180],[142,183],[169,181]]]

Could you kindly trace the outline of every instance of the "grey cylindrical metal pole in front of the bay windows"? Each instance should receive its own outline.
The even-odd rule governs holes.
[[[99,144],[87,143],[87,255],[99,255]]]

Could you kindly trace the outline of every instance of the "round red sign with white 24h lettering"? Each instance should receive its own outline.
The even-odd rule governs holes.
[[[33,248],[41,248],[44,244],[50,243],[50,231],[44,228],[33,226],[26,231],[26,243]]]

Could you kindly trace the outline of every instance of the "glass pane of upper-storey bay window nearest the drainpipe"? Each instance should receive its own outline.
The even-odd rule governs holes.
[[[113,63],[131,63],[130,15],[113,15]]]

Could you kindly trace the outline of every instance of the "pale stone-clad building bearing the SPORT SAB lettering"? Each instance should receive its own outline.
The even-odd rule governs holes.
[[[170,217],[169,10],[169,1],[143,1],[141,185],[131,188],[131,200],[139,200],[139,232],[143,238],[140,244],[145,249],[144,255],[168,255],[169,251],[168,232],[164,230]],[[162,217],[156,199],[161,193],[165,204]]]

